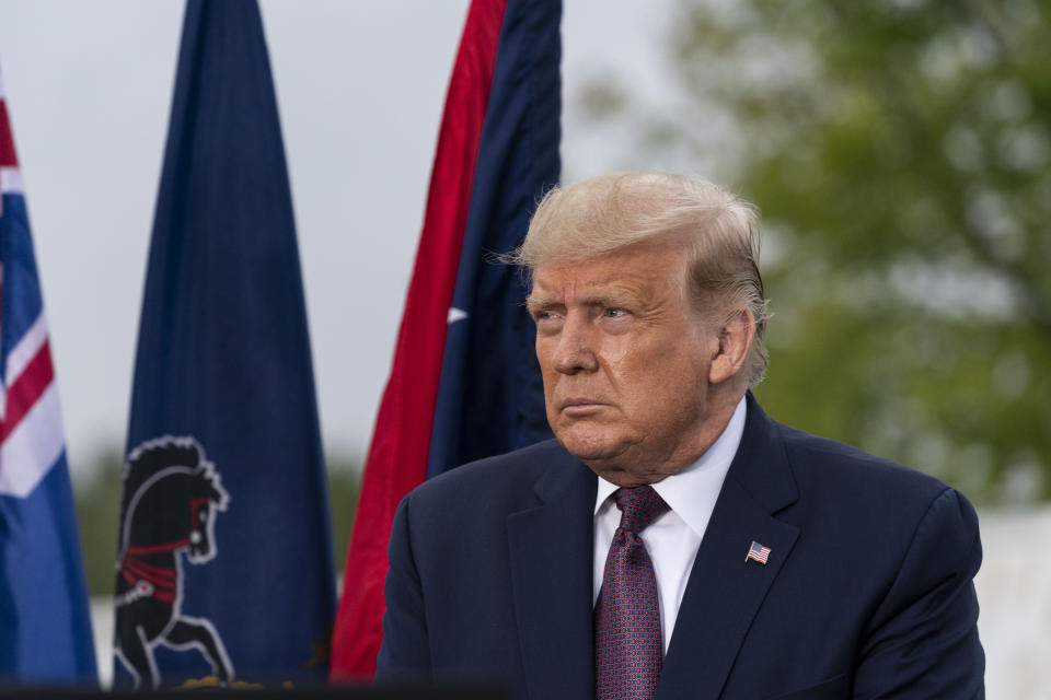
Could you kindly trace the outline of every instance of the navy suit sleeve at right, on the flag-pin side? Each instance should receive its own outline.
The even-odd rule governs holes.
[[[854,678],[855,698],[985,697],[973,583],[981,561],[974,509],[946,489],[920,521],[876,610]]]

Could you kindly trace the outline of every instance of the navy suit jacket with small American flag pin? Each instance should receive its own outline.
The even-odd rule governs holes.
[[[984,697],[970,503],[782,425],[749,395],[657,698]],[[556,441],[459,467],[399,508],[377,678],[591,698],[597,478]],[[746,560],[752,540],[767,563]]]

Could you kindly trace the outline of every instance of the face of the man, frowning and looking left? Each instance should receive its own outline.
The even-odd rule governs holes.
[[[566,450],[620,486],[659,481],[714,440],[704,423],[719,338],[690,307],[684,280],[671,245],[534,270],[529,310],[547,421]]]

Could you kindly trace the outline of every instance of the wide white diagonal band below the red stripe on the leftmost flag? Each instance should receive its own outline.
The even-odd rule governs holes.
[[[28,495],[63,448],[58,387],[51,382],[0,447],[0,495]]]

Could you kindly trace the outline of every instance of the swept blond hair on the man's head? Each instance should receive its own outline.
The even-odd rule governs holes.
[[[731,315],[751,313],[755,337],[744,372],[755,386],[766,371],[770,317],[759,273],[759,214],[732,192],[701,178],[656,172],[610,173],[556,187],[541,200],[522,245],[505,259],[532,272],[541,265],[663,243],[684,248],[686,289],[702,315],[713,306]]]

